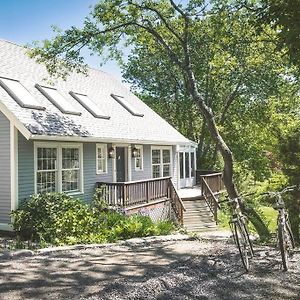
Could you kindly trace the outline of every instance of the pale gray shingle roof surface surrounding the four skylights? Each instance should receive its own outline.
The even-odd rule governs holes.
[[[25,48],[0,40],[0,76],[19,80],[46,107],[45,111],[22,108],[0,87],[0,101],[24,124],[32,137],[86,137],[166,145],[190,143],[126,86],[102,71],[89,69],[88,76],[72,73],[66,81],[54,80],[43,65],[28,57]],[[49,80],[81,112],[81,116],[63,114],[35,87],[36,84],[49,85]],[[69,94],[70,91],[87,94],[110,119],[95,118]],[[111,94],[123,96],[144,116],[133,116]]]

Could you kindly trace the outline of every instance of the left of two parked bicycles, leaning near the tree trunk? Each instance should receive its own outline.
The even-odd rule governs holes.
[[[245,195],[248,196],[248,195]],[[230,206],[230,221],[229,226],[235,241],[237,248],[239,249],[240,257],[242,264],[246,270],[249,271],[250,263],[249,259],[254,256],[252,242],[249,236],[249,230],[247,226],[247,217],[242,214],[240,210],[239,201],[241,197],[230,199],[226,198],[223,201],[218,202],[218,207],[220,208],[219,203],[228,202]]]

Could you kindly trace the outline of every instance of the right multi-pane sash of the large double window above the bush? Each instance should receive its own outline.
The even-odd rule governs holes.
[[[62,148],[62,191],[79,190],[79,149]]]

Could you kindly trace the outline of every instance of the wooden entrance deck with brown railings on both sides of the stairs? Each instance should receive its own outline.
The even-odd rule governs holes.
[[[110,207],[128,209],[147,206],[149,203],[166,199],[170,201],[178,221],[183,223],[185,211],[182,200],[202,199],[217,220],[217,197],[223,190],[222,174],[197,173],[197,185],[176,190],[171,177],[154,178],[130,182],[97,182],[99,197]]]

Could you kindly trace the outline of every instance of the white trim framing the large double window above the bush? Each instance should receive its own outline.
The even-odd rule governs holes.
[[[38,148],[57,148],[57,192],[62,193],[62,148],[78,148],[80,178],[79,191],[64,192],[68,195],[80,195],[84,193],[83,178],[83,145],[82,143],[55,143],[55,142],[34,142],[34,193],[37,194],[37,149]]]

